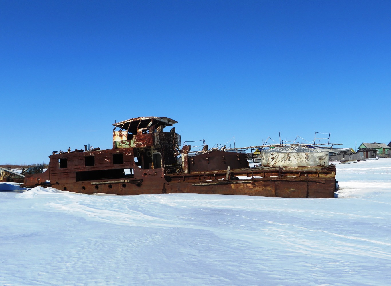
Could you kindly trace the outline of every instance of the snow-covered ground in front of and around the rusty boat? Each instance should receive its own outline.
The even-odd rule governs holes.
[[[391,158],[337,180],[337,199],[0,185],[0,285],[391,285]]]

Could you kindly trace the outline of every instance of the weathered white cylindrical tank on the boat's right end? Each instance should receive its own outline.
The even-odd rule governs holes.
[[[328,151],[303,146],[286,146],[262,150],[262,166],[328,166]]]

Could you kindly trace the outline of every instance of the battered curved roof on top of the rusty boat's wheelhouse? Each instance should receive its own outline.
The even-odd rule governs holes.
[[[113,125],[115,127],[119,127],[122,130],[127,130],[128,132],[136,133],[137,129],[149,129],[151,127],[155,127],[155,128],[161,127],[161,130],[163,130],[164,127],[172,126],[175,123],[178,123],[178,121],[175,121],[168,117],[149,116],[149,117],[131,118],[121,122],[116,122]]]

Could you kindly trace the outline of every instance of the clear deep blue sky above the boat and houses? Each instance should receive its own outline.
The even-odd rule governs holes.
[[[0,164],[177,120],[209,146],[391,141],[389,1],[0,1]]]

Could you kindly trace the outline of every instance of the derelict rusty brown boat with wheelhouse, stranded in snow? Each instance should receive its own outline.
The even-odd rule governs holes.
[[[224,148],[206,147],[190,156],[190,145],[179,148],[181,137],[174,127],[169,132],[163,130],[175,123],[167,117],[139,117],[115,123],[112,149],[88,149],[84,145],[84,149],[55,151],[49,156],[48,170],[27,175],[24,186],[53,186],[90,194],[334,198],[334,165],[249,168],[246,154]]]

